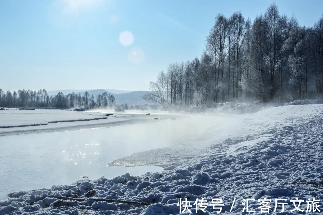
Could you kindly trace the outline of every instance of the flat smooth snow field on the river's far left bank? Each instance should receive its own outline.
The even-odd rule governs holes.
[[[107,116],[107,114],[113,114]],[[18,110],[14,108],[0,111],[0,136],[34,134],[43,132],[69,131],[85,128],[103,128],[148,122],[153,116],[142,115],[143,111],[117,113],[113,110],[93,109],[70,111],[59,109]],[[162,118],[169,118],[162,114]]]

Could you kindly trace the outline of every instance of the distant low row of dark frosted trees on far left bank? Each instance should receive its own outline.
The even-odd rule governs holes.
[[[115,98],[106,92],[90,96],[88,91],[81,93],[69,93],[64,95],[59,92],[55,96],[49,96],[46,89],[21,90],[11,93],[0,89],[0,107],[40,107],[40,108],[95,108],[113,107]]]

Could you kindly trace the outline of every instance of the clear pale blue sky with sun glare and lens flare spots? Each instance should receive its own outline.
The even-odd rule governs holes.
[[[148,90],[169,63],[202,54],[218,13],[241,10],[253,20],[271,3],[0,0],[0,88]],[[323,13],[322,0],[276,4],[305,26]]]

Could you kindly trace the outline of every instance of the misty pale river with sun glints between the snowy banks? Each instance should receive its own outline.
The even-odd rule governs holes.
[[[153,120],[156,116],[160,120]],[[0,200],[6,199],[6,195],[14,191],[70,184],[83,179],[83,176],[98,179],[127,172],[141,175],[148,171],[161,171],[161,167],[153,165],[107,167],[107,164],[133,153],[193,140],[215,123],[202,123],[201,126],[201,122],[192,119],[185,121],[183,116],[160,113],[152,116],[141,113],[120,115],[120,120],[126,120],[119,124],[95,124],[92,126],[95,128],[89,128],[89,125],[86,129],[71,127],[73,123],[80,126],[83,122],[68,122],[68,129],[61,127],[64,123],[57,123],[55,128],[49,127],[52,126],[49,124],[0,128],[0,133],[10,131],[0,135]],[[172,117],[177,120],[172,120]]]

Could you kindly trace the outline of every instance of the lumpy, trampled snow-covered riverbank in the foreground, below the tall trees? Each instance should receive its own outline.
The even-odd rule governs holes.
[[[189,124],[192,120],[195,123]],[[322,104],[280,106],[243,115],[201,114],[187,121],[185,117],[164,122],[168,130],[160,130],[160,134],[174,139],[175,133],[183,132],[178,138],[181,144],[146,148],[151,150],[110,164],[131,166],[128,162],[134,161],[137,165],[160,165],[166,170],[15,192],[0,202],[0,214],[179,214],[179,198],[192,201],[192,207],[188,207],[192,212],[185,210],[182,214],[194,214],[194,201],[201,198],[208,204],[212,199],[222,199],[222,213],[228,214],[248,213],[242,204],[246,199],[253,199],[248,210],[267,214],[259,208],[265,198],[271,200],[270,214],[305,214],[306,200],[315,198],[320,200],[320,212],[309,214],[322,214]],[[164,122],[160,120],[158,125]],[[173,122],[179,124],[172,127]],[[198,126],[192,129],[194,124]],[[187,126],[177,128],[180,125]],[[172,133],[175,128],[178,130]],[[188,135],[191,132],[196,132],[192,137],[198,138],[192,139]],[[155,134],[150,142],[160,138],[161,143],[167,141],[163,135]],[[274,212],[275,199],[285,199],[285,212],[280,213],[281,205]],[[293,200],[304,201],[299,207],[303,212],[293,211]],[[205,213],[202,209],[199,207],[199,214],[219,211],[211,205],[207,205]]]

